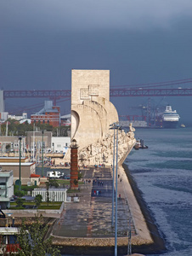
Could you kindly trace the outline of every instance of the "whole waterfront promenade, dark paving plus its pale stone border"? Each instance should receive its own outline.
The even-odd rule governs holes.
[[[111,252],[115,244],[115,228],[111,227],[112,170],[106,167],[87,168],[82,170],[82,174],[83,184],[76,193],[79,202],[65,203],[61,217],[52,231],[53,243],[73,249],[97,247],[101,251],[102,247],[110,247]],[[117,197],[118,247],[127,250],[128,229],[131,229],[133,245],[152,243],[150,232],[122,168],[118,171]]]

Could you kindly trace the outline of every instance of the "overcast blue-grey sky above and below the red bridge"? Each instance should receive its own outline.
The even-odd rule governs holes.
[[[71,89],[72,68],[110,69],[110,86],[190,79],[191,48],[191,0],[0,0],[4,90]],[[111,99],[124,114],[146,100]]]

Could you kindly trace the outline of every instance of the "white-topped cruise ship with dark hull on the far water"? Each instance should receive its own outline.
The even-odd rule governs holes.
[[[177,128],[179,119],[180,116],[176,110],[172,110],[172,107],[168,105],[162,115],[163,128]]]

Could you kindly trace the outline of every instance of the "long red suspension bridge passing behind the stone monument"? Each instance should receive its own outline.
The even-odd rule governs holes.
[[[170,86],[174,88],[169,88]],[[124,85],[119,88],[116,86],[110,89],[110,96],[192,96],[192,79]],[[8,98],[48,98],[56,105],[58,100],[70,97],[71,90],[3,90],[4,100]]]

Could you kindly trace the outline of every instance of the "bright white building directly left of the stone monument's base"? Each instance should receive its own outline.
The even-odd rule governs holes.
[[[66,153],[70,147],[71,137],[52,137],[52,151],[56,153]]]

